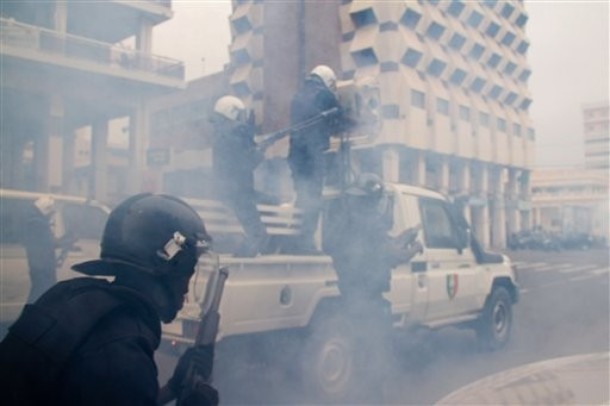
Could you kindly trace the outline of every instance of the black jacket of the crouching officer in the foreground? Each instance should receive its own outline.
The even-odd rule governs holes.
[[[27,305],[0,343],[10,405],[154,405],[161,324],[139,292],[93,278]]]

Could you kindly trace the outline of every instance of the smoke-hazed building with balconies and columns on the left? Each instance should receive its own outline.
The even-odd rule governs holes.
[[[171,17],[171,0],[2,1],[0,186],[101,200],[140,190],[146,100],[185,87],[183,64],[151,53],[153,27]],[[117,167],[108,129],[121,117],[128,147]],[[86,182],[75,170],[83,131]]]

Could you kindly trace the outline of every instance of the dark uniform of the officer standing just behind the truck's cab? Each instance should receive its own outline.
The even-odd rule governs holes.
[[[291,124],[299,125],[333,108],[339,108],[336,96],[317,78],[308,78],[292,99]],[[305,250],[315,248],[313,236],[318,224],[326,172],[324,152],[340,124],[339,114],[335,114],[290,134],[288,165],[297,196],[296,207],[303,210],[300,248]]]

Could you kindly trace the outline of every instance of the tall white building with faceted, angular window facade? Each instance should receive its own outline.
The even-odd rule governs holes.
[[[534,130],[522,1],[234,1],[229,83],[264,131],[317,64],[374,77],[382,129],[353,151],[386,180],[472,196],[484,244],[529,227]],[[276,153],[281,159],[285,144]],[[267,163],[272,162],[272,160]],[[277,171],[272,172],[274,178]]]

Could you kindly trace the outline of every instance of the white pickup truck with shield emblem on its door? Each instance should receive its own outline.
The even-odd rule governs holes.
[[[395,268],[391,290],[398,334],[414,328],[445,326],[472,328],[488,349],[509,340],[513,304],[519,287],[515,270],[504,255],[484,252],[472,238],[460,210],[440,193],[412,186],[387,184],[391,233],[398,235],[420,225],[418,239],[423,253]],[[338,194],[327,196],[320,237],[337,209]],[[190,200],[212,236],[239,229],[226,223],[227,213],[217,203]],[[259,206],[268,231],[277,238],[294,233],[295,210]],[[223,223],[223,221],[225,223]],[[324,246],[324,244],[322,245]],[[328,256],[264,255],[235,258],[221,255],[229,268],[220,306],[217,371],[232,361],[243,366],[249,360],[267,365],[289,359],[308,390],[323,399],[340,400],[349,390],[353,365],[350,337],[341,328],[337,302],[337,275]],[[209,263],[202,262],[192,280],[187,304],[172,324],[164,326],[165,344],[179,351],[192,345],[197,331],[200,302],[205,291]],[[223,348],[230,348],[226,352]]]

